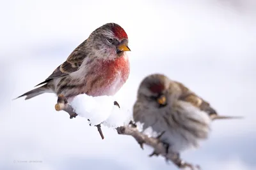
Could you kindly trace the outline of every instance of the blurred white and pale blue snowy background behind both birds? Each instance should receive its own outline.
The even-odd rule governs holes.
[[[54,94],[12,101],[108,22],[124,27],[131,48],[121,106],[132,108],[148,74],[182,81],[220,114],[246,117],[214,122],[211,138],[182,158],[207,170],[256,169],[255,0],[2,0],[0,21],[0,169],[176,169],[113,129],[102,140],[85,118],[55,111]]]

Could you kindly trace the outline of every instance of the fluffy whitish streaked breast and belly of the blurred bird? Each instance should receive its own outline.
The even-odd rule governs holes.
[[[172,106],[173,107],[173,106]],[[186,108],[184,108],[186,107]],[[151,108],[145,103],[136,102],[133,110],[134,121],[143,124],[143,131],[152,128],[161,141],[170,145],[172,152],[182,152],[191,147],[198,147],[200,139],[207,139],[210,131],[210,118],[188,103],[177,103],[175,110],[171,106]]]

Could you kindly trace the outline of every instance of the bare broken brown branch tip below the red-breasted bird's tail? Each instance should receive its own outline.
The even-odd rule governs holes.
[[[60,94],[57,99],[57,104],[55,104],[55,110],[56,111],[66,111],[70,118],[75,118],[77,116],[76,112],[74,112],[74,109],[72,106],[68,104],[67,98]]]

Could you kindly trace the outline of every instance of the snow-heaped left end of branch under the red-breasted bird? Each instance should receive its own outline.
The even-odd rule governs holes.
[[[111,96],[92,97],[81,94],[76,96],[71,103],[68,103],[64,96],[59,96],[55,109],[67,112],[70,118],[76,118],[77,115],[86,118],[90,126],[97,127],[102,139],[104,135],[101,125],[116,128],[128,124],[131,118],[127,110],[124,108],[120,110],[120,105]]]

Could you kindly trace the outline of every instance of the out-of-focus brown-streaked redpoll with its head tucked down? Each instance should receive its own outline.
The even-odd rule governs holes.
[[[180,153],[207,139],[212,120],[238,117],[219,116],[182,83],[163,74],[152,74],[141,81],[133,118],[143,125],[144,132],[151,127],[153,132],[163,133],[160,141],[168,145],[169,151]]]

